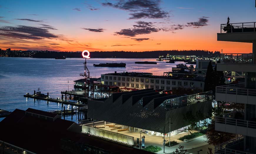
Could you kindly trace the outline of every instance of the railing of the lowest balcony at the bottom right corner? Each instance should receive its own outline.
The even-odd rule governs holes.
[[[252,154],[245,151],[239,151],[234,150],[232,148],[229,148],[230,146],[241,144],[244,142],[244,136],[241,136],[239,138],[235,138],[233,140],[227,141],[225,143],[222,143],[220,145],[215,146],[215,153],[220,154]]]

